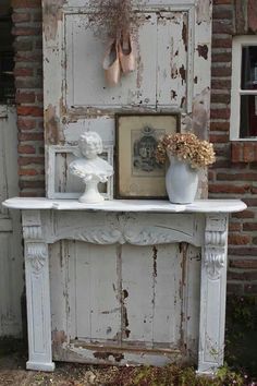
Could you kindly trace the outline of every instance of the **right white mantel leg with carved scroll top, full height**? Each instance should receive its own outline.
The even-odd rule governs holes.
[[[207,215],[201,257],[198,373],[223,364],[228,215]]]

